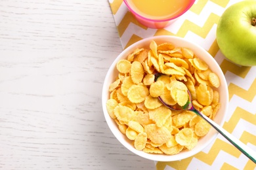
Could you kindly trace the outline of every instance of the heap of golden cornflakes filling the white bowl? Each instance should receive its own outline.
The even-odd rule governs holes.
[[[137,150],[178,154],[192,150],[209,132],[211,126],[194,112],[170,110],[160,101],[186,105],[189,90],[194,107],[215,118],[221,107],[219,77],[192,50],[152,41],[118,61],[116,69],[106,109]]]

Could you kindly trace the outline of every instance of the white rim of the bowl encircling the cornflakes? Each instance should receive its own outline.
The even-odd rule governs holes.
[[[142,157],[142,158],[146,158],[148,160],[154,160],[154,161],[177,161],[177,160],[183,160],[185,158],[188,158],[190,156],[193,156],[195,154],[198,154],[198,152],[202,151],[206,146],[208,146],[210,143],[212,143],[213,141],[215,141],[215,139],[217,138],[217,135],[219,134],[215,129],[211,128],[209,133],[207,133],[207,135],[211,135],[211,137],[205,141],[205,143],[202,143],[200,145],[200,149],[199,150],[188,150],[188,151],[182,151],[184,152],[184,157],[179,158],[181,156],[181,152],[179,154],[176,155],[165,155],[165,154],[148,154],[146,152],[140,151],[140,150],[136,150],[134,148],[134,146],[132,144],[126,144],[126,143],[131,143],[129,141],[129,139],[122,139],[121,137],[119,137],[119,134],[121,133],[116,125],[116,122],[114,122],[114,120],[112,118],[110,118],[107,110],[106,110],[106,95],[109,96],[109,92],[108,92],[108,88],[109,88],[109,81],[108,78],[111,77],[112,71],[116,70],[116,63],[117,61],[119,61],[119,59],[122,58],[127,58],[127,55],[131,53],[132,50],[135,50],[136,48],[140,48],[142,47],[140,44],[143,43],[149,43],[150,41],[161,41],[161,42],[175,42],[175,41],[184,41],[187,44],[190,44],[193,46],[193,48],[197,48],[198,50],[200,50],[200,54],[202,53],[202,55],[207,56],[207,58],[209,57],[209,60],[213,63],[215,69],[217,69],[218,71],[218,76],[221,80],[221,87],[223,88],[223,95],[224,97],[221,97],[220,99],[222,99],[223,101],[221,101],[222,103],[225,104],[225,107],[221,107],[221,110],[223,111],[223,118],[220,120],[220,122],[217,124],[219,124],[219,126],[223,126],[224,121],[226,119],[226,115],[228,112],[228,86],[226,84],[226,79],[224,77],[223,71],[221,70],[221,67],[219,67],[219,64],[217,63],[217,61],[211,56],[211,54],[209,54],[204,48],[202,48],[202,46],[199,46],[198,44],[196,44],[195,42],[192,41],[188,41],[184,38],[181,37],[176,37],[173,35],[158,35],[158,36],[154,36],[154,37],[148,37],[146,39],[142,39],[140,41],[135,42],[134,44],[132,44],[131,46],[128,46],[127,48],[125,48],[125,50],[123,50],[116,59],[114,59],[113,63],[110,65],[108,72],[106,73],[105,79],[104,79],[104,84],[103,84],[103,88],[102,88],[102,109],[104,112],[104,117],[106,119],[106,122],[108,124],[108,127],[110,128],[110,130],[112,131],[112,133],[114,134],[114,136],[116,137],[116,139],[123,144],[123,146],[125,146],[125,148],[127,148],[128,150],[130,150],[131,152],[133,152],[134,154],[137,154],[138,156]],[[145,46],[145,45],[143,45]],[[193,50],[194,51],[194,50]],[[198,56],[198,55],[197,55]],[[198,58],[200,58],[201,56],[198,56]],[[209,65],[209,62],[207,63]],[[217,66],[217,67],[216,67]],[[216,72],[216,71],[215,71]],[[116,78],[116,77],[115,77]],[[112,77],[113,79],[113,77]],[[220,110],[218,111],[220,112]],[[220,113],[219,113],[220,114]],[[217,116],[219,115],[217,114]],[[216,117],[217,117],[216,116]],[[215,117],[215,119],[216,119]],[[116,128],[114,128],[113,126],[116,126]],[[122,134],[122,133],[121,133]],[[122,134],[123,135],[123,134]],[[207,135],[205,135],[204,137],[206,137]],[[200,140],[202,141],[202,139],[204,137],[201,137]],[[153,155],[153,156],[152,156]],[[179,155],[179,156],[178,156]],[[182,154],[183,155],[183,154]]]

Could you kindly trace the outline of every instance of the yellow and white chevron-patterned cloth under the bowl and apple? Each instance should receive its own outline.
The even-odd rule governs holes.
[[[256,67],[240,67],[219,50],[216,29],[224,10],[238,0],[197,0],[192,8],[164,29],[145,27],[132,16],[123,0],[108,0],[123,48],[156,35],[175,35],[198,43],[219,63],[228,83],[229,109],[224,129],[256,151]],[[255,163],[224,137],[195,156],[181,161],[156,162],[156,169],[256,169]]]

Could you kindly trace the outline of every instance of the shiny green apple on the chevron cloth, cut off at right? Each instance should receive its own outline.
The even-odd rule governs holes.
[[[256,65],[256,1],[241,1],[223,12],[217,43],[223,55],[238,65]]]

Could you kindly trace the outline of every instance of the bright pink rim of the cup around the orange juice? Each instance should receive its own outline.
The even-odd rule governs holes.
[[[135,14],[136,16],[139,16],[139,18],[142,18],[143,20],[148,20],[148,21],[151,21],[151,22],[167,22],[167,21],[169,21],[169,20],[173,20],[173,19],[175,19],[175,18],[178,18],[179,16],[181,16],[182,14],[184,14],[186,11],[188,11],[188,10],[192,7],[192,5],[194,4],[195,1],[196,1],[196,0],[190,0],[189,5],[188,5],[188,6],[186,7],[186,9],[184,9],[179,15],[173,16],[173,17],[171,17],[171,18],[166,18],[166,19],[160,19],[160,20],[158,20],[158,19],[150,19],[150,18],[146,18],[146,17],[144,17],[144,16],[141,16],[140,14],[138,14],[137,12],[135,12],[135,10],[133,10],[133,9],[130,7],[130,5],[129,5],[129,3],[127,2],[127,0],[123,0],[123,2],[125,3],[125,5],[127,6],[127,8],[128,8],[133,14]]]

